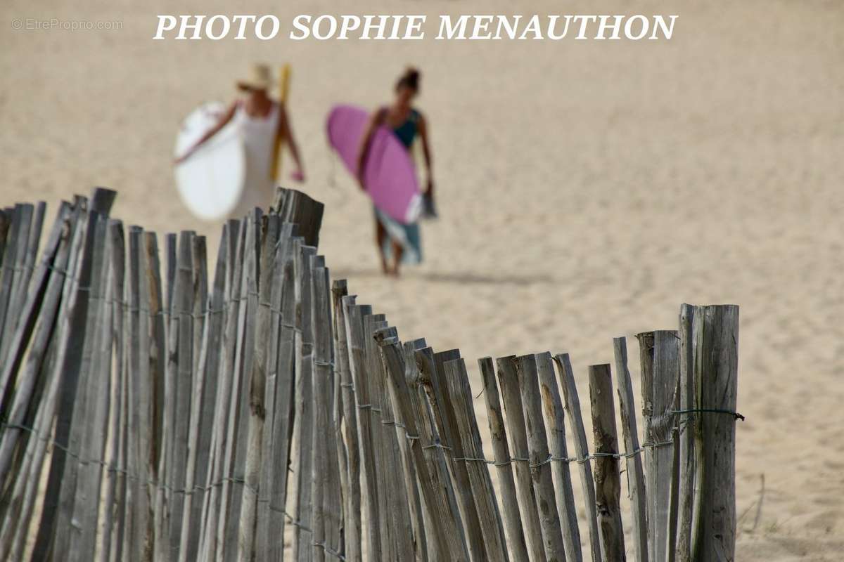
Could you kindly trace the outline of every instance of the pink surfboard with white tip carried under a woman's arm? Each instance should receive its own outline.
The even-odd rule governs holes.
[[[358,175],[358,153],[368,120],[369,113],[353,105],[337,105],[328,114],[328,142],[354,177]],[[413,160],[387,127],[378,127],[372,136],[365,166],[366,193],[380,211],[404,224],[419,218],[422,195]]]

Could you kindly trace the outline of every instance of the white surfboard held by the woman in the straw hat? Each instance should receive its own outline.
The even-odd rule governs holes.
[[[225,113],[225,104],[208,102],[193,110],[176,136],[176,157],[184,154]],[[241,200],[246,181],[246,153],[234,120],[176,165],[181,201],[207,221],[229,217]]]

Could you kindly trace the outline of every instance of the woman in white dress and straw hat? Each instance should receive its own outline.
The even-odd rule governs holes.
[[[291,177],[296,181],[305,180],[299,147],[296,145],[284,105],[274,101],[267,94],[272,82],[272,73],[267,65],[254,65],[252,76],[237,83],[237,88],[246,95],[232,102],[225,113],[220,115],[217,124],[176,160],[176,163],[181,163],[190,158],[198,147],[234,120],[246,148],[246,180],[241,201],[238,201],[235,210],[231,212],[233,218],[242,218],[254,207],[265,209],[272,204],[275,190],[273,150],[276,138],[286,141],[290,148],[290,154],[296,164]]]

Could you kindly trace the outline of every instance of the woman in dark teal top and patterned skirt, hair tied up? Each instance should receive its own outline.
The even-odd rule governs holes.
[[[404,149],[410,153],[416,136],[422,142],[425,155],[426,189],[423,198],[424,215],[436,217],[434,206],[434,180],[431,176],[431,153],[428,146],[428,126],[419,110],[411,102],[419,94],[419,71],[408,68],[398,78],[396,94],[392,104],[376,110],[369,118],[360,140],[360,152],[357,158],[357,174],[360,187],[367,190],[366,161],[370,157],[372,139],[380,127],[386,127],[398,137]],[[422,260],[422,247],[419,239],[419,222],[400,222],[390,217],[387,212],[373,205],[375,211],[376,244],[381,258],[381,268],[387,275],[398,276],[398,267],[402,263],[418,264]],[[391,263],[392,262],[392,263]]]

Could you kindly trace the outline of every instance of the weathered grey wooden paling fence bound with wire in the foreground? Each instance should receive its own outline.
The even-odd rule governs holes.
[[[322,204],[227,222],[212,279],[114,196],[40,255],[45,206],[0,213],[0,559],[733,560],[737,307],[638,335],[638,404],[624,338],[588,393],[566,354],[480,359],[487,457],[459,351],[329,282]]]

